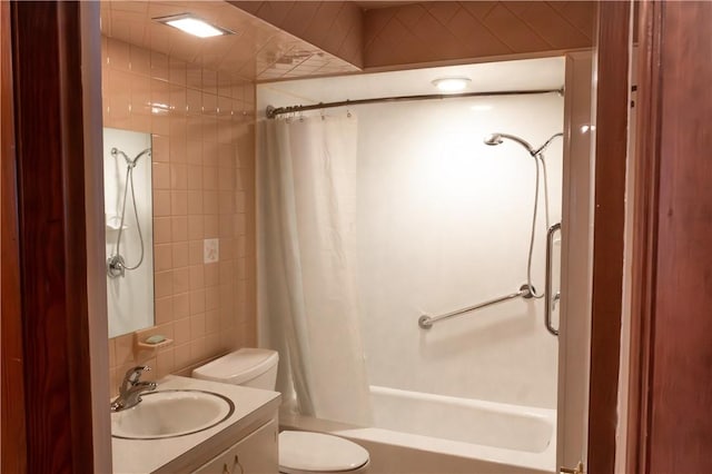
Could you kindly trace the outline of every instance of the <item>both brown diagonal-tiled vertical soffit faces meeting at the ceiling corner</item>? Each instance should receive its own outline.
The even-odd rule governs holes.
[[[591,1],[231,3],[364,69],[590,48],[595,14]]]

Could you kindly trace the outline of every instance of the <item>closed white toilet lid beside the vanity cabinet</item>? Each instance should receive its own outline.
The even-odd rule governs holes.
[[[348,440],[312,432],[279,433],[280,473],[355,473],[366,464],[368,452]]]

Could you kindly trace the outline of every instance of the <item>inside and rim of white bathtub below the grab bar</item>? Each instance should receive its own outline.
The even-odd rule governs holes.
[[[553,472],[556,411],[479,399],[370,387],[374,427],[340,431],[356,440],[492,463],[471,472]],[[372,457],[377,458],[377,455]],[[476,467],[475,467],[476,466]],[[412,472],[413,466],[398,466]],[[397,472],[397,471],[396,471]],[[427,472],[427,471],[426,471]],[[431,472],[437,472],[431,471]]]

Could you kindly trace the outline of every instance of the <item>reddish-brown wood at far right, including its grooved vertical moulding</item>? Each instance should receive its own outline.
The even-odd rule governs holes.
[[[705,472],[712,451],[709,2],[643,2],[629,466]]]

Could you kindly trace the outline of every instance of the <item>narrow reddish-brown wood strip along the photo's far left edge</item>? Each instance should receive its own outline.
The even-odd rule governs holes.
[[[22,305],[20,293],[20,247],[18,239],[17,169],[12,81],[11,12],[0,2],[0,75],[2,142],[0,150],[0,472],[27,472],[24,429],[24,358],[22,355]],[[12,407],[12,409],[8,409]]]

